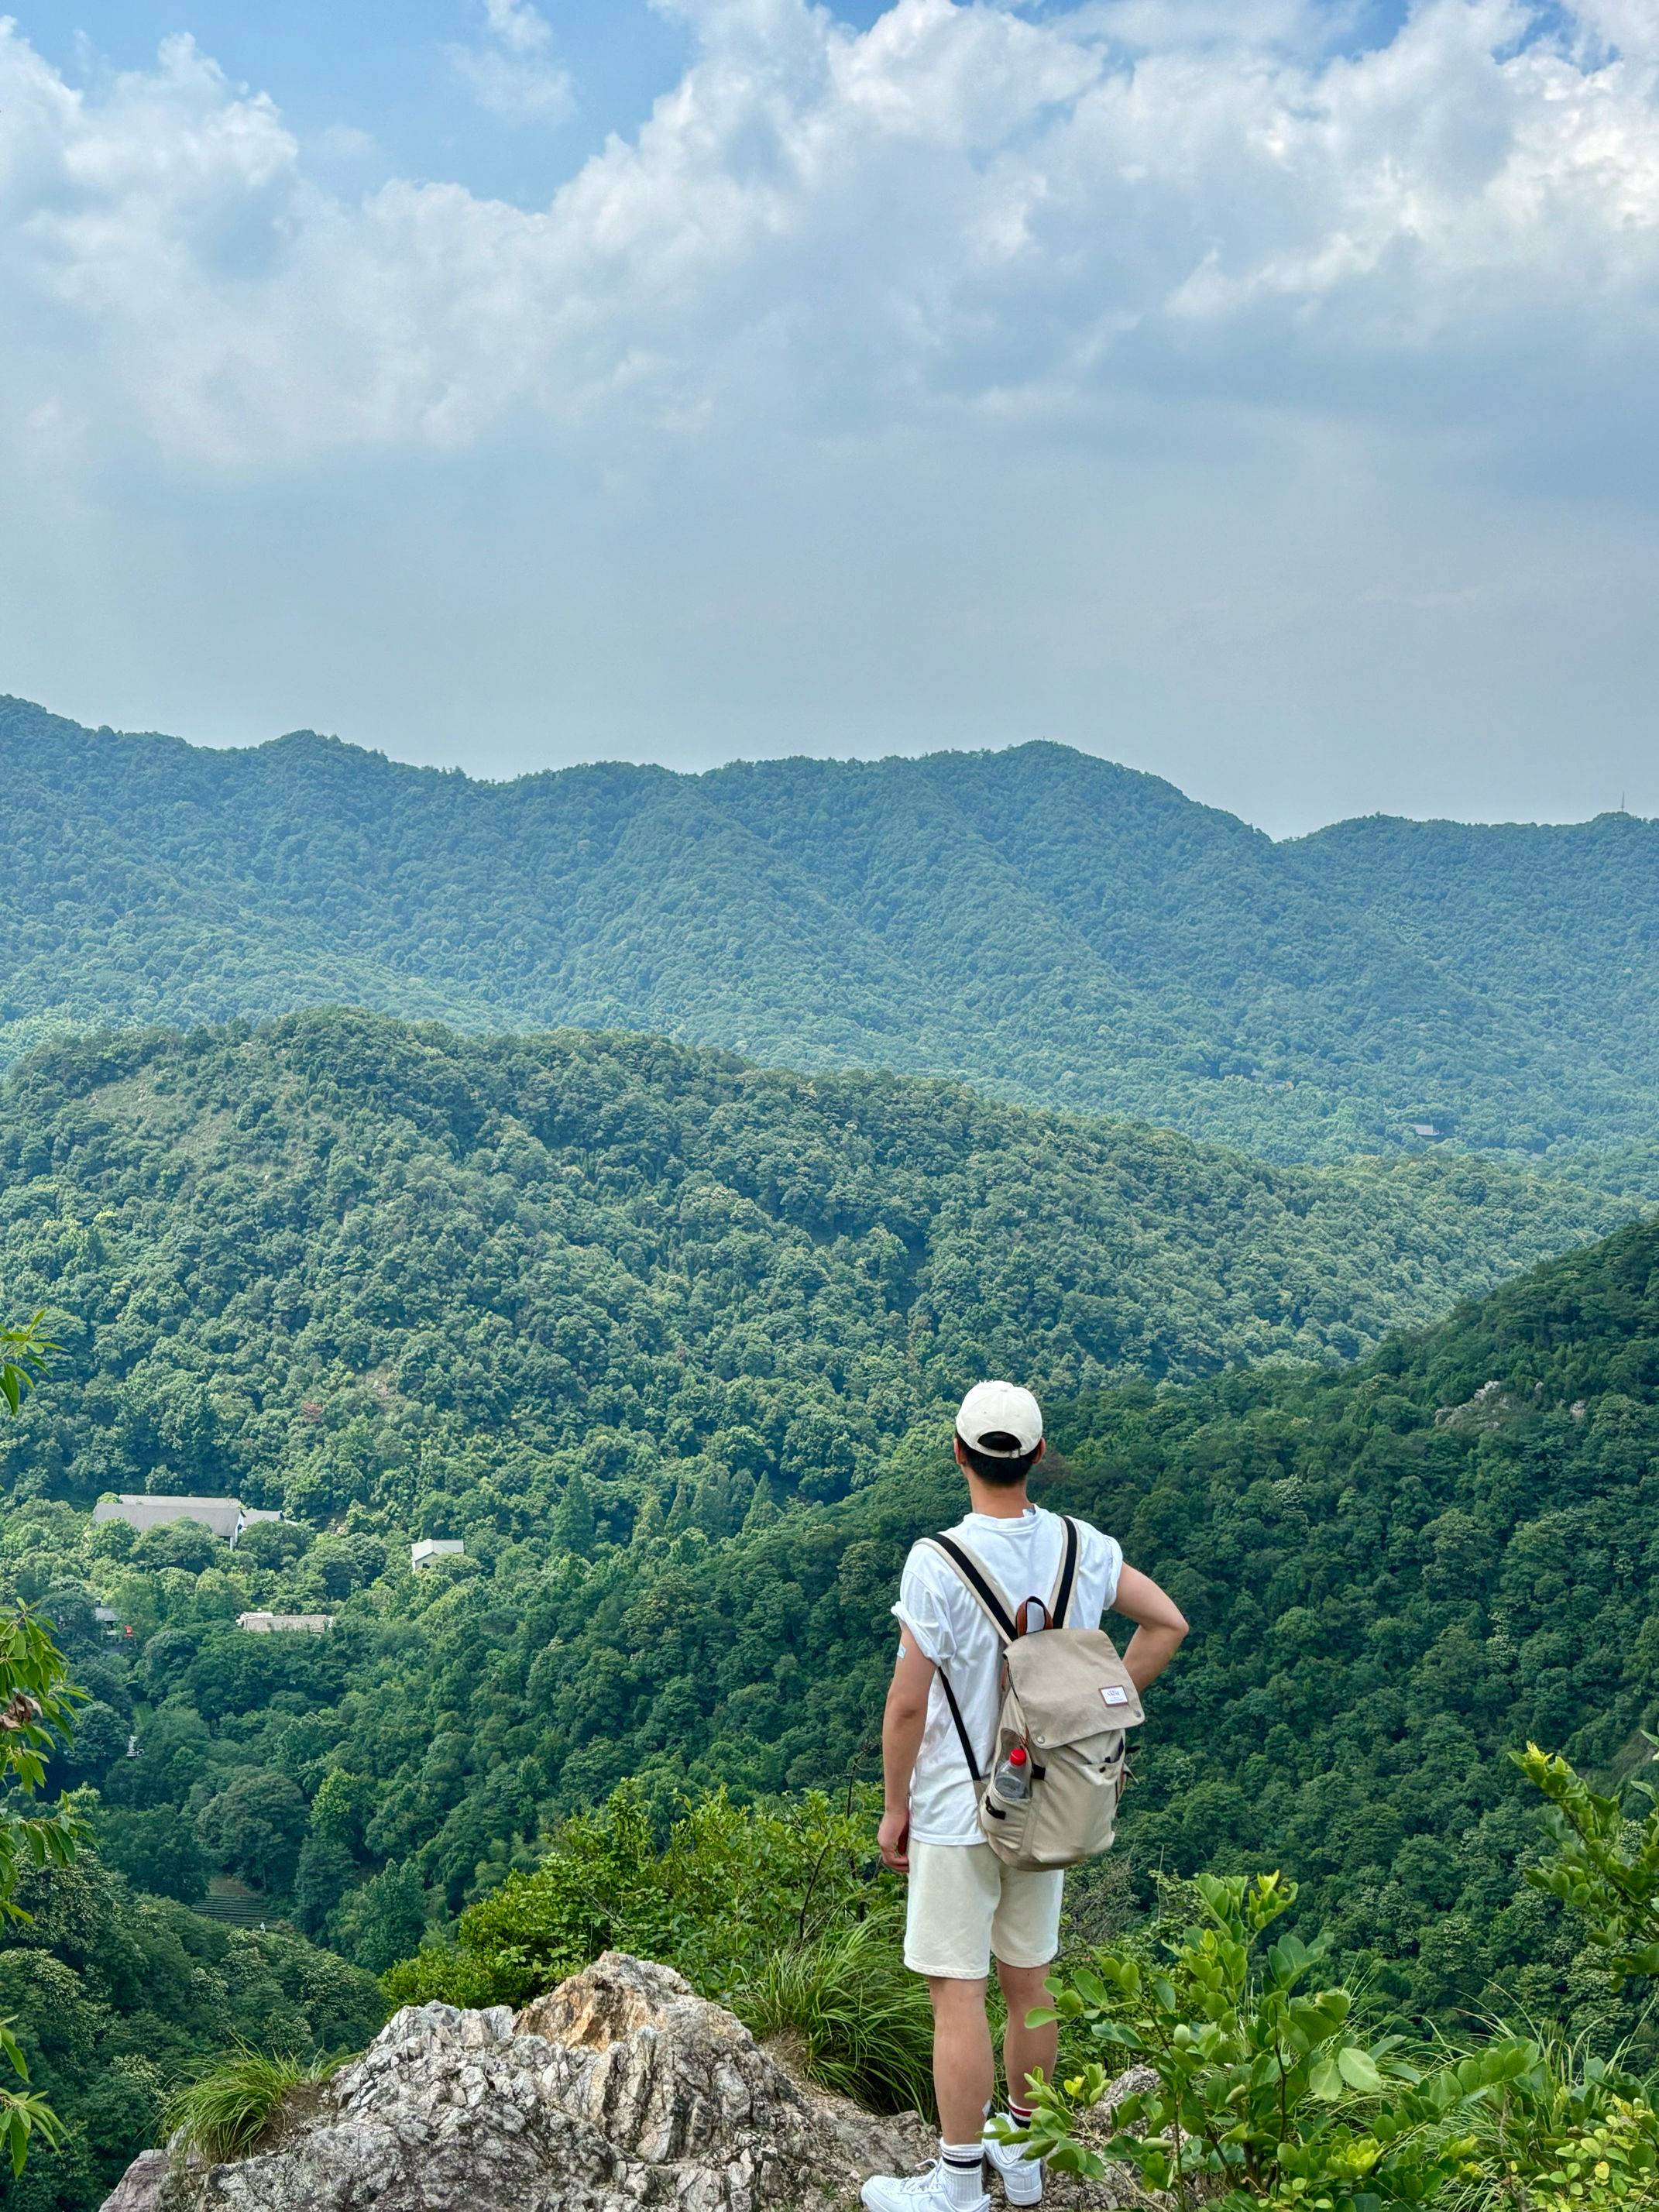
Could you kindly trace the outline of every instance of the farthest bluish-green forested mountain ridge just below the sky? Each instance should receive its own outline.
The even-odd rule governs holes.
[[[953,1073],[1274,1159],[1451,1137],[1659,1192],[1646,821],[1274,845],[1046,743],[491,785],[24,701],[0,701],[0,770],[13,1055],[347,1002]]]

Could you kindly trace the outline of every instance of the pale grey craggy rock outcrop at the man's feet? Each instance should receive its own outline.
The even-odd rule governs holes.
[[[931,2148],[916,2115],[810,2088],[677,1973],[608,1951],[518,2015],[405,2008],[259,2152],[146,2150],[104,2212],[838,2212]]]

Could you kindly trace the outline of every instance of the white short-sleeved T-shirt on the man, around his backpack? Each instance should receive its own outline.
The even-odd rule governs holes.
[[[947,1535],[962,1546],[984,1579],[1013,1613],[1026,1597],[1048,1604],[1060,1575],[1066,1531],[1057,1513],[1026,1506],[1011,1520],[969,1513]],[[1102,1613],[1117,1597],[1124,1548],[1088,1522],[1077,1522],[1077,1579],[1066,1628],[1099,1628]],[[914,1544],[898,1584],[898,1619],[911,1644],[951,1677],[962,1723],[982,1763],[998,1725],[998,1677],[1002,1644],[962,1577],[931,1544]],[[982,1843],[973,1809],[973,1776],[962,1759],[962,1741],[951,1721],[945,1683],[933,1677],[927,1699],[922,1747],[909,1781],[911,1843]]]

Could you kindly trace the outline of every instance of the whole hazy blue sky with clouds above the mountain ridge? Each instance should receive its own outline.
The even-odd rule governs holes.
[[[1659,7],[20,0],[0,690],[1659,812]]]

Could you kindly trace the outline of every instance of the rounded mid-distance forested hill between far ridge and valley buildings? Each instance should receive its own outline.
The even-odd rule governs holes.
[[[580,1467],[608,1535],[681,1491],[712,1531],[867,1480],[984,1367],[1075,1394],[1352,1354],[1624,1210],[661,1040],[106,1035],[0,1091],[0,1272],[75,1380],[0,1469],[502,1542]]]

